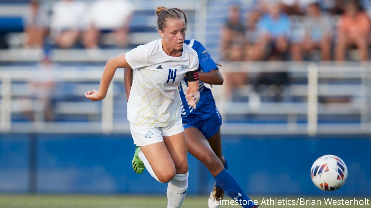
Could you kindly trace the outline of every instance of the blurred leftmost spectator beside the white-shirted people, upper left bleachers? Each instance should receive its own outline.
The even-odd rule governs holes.
[[[25,47],[40,48],[43,46],[44,37],[47,32],[48,16],[40,5],[40,0],[30,2],[29,13],[27,14]]]

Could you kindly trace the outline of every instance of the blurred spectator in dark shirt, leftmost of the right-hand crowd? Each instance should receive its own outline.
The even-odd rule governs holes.
[[[223,60],[243,60],[245,28],[240,17],[241,12],[239,6],[231,6],[229,9],[228,20],[221,30],[221,55]]]

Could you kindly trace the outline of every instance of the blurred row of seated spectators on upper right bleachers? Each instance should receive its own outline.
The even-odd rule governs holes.
[[[368,60],[370,6],[362,0],[263,0],[241,11],[234,5],[222,31],[222,58]]]

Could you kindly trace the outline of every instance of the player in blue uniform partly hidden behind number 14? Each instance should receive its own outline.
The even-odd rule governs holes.
[[[187,25],[187,16],[178,8],[174,8],[183,14],[185,24]],[[219,207],[219,201],[223,198],[224,190],[227,194],[239,201],[246,200],[247,204],[243,207],[259,208],[250,201],[250,198],[243,191],[236,179],[230,174],[227,169],[227,162],[221,153],[221,136],[220,125],[221,116],[216,108],[213,95],[209,88],[204,86],[204,83],[209,84],[223,84],[223,77],[219,73],[216,63],[211,59],[209,53],[196,40],[185,40],[185,44],[197,51],[199,59],[199,76],[200,76],[200,102],[197,108],[194,109],[188,104],[186,95],[187,88],[190,83],[183,79],[180,84],[180,97],[182,100],[182,120],[185,128],[185,135],[187,137],[188,152],[194,157],[203,162],[213,175],[216,185],[211,191],[208,205],[209,208]],[[125,69],[125,88],[127,96],[130,94],[132,70]],[[146,158],[138,157],[140,155],[140,148],[137,148],[132,161],[134,171],[142,173],[144,166],[148,169]],[[144,164],[142,163],[144,162]],[[224,164],[224,166],[223,166]],[[151,172],[149,170],[148,172]]]

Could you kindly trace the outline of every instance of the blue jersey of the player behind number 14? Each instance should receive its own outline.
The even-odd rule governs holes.
[[[210,54],[206,51],[205,47],[197,40],[185,40],[185,44],[191,46],[198,55],[199,71],[209,72],[213,69],[218,68],[210,57]],[[180,82],[179,94],[182,101],[181,104],[181,116],[183,123],[195,124],[199,121],[206,120],[214,114],[216,114],[216,105],[211,90],[205,87],[204,83],[200,80],[200,101],[197,103],[196,109],[188,104],[185,98],[185,90],[188,87],[187,79],[184,78]]]

